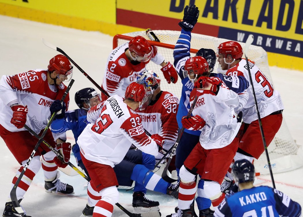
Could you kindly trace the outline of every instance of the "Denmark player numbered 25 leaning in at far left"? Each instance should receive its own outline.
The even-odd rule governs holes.
[[[46,70],[35,69],[13,76],[2,76],[0,80],[0,107],[2,110],[0,135],[21,165],[12,180],[13,185],[38,142],[38,139],[29,133],[24,125],[26,124],[37,134],[42,134],[51,115],[49,107],[54,100],[62,98],[66,90],[66,86],[62,82],[68,81],[72,77],[72,69],[71,63],[65,56],[57,55],[49,61]],[[65,98],[67,105],[68,101],[69,96],[67,95]],[[56,145],[70,145],[65,144],[65,142],[56,144],[50,130],[47,131],[44,140],[54,148]],[[62,183],[58,179],[60,173],[57,173],[58,166],[54,163],[54,160],[57,159],[56,155],[48,147],[41,144],[16,189],[18,200],[23,199],[34,176],[39,171],[41,155],[46,191],[64,194],[74,192],[71,185]],[[10,197],[5,204],[3,216],[29,217],[26,214],[20,215],[15,210]]]

